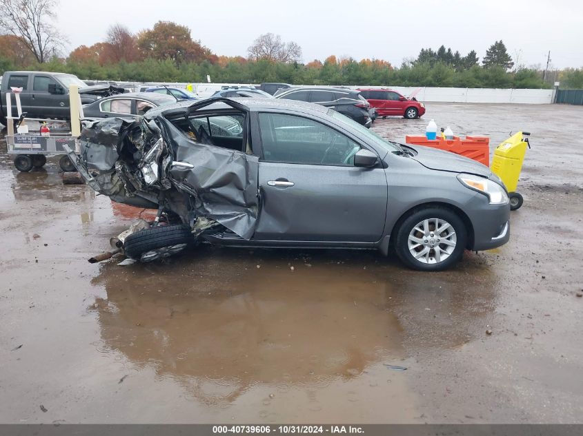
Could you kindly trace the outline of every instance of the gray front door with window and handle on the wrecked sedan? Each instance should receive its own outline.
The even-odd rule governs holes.
[[[262,112],[255,240],[376,242],[384,230],[382,167],[353,165],[362,147],[332,125],[295,114]],[[371,150],[373,151],[373,150]]]

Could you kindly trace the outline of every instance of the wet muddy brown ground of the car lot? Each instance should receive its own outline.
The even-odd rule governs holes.
[[[2,143],[0,423],[582,423],[583,107],[427,106],[373,129],[533,146],[510,242],[442,273],[217,247],[89,264],[140,209]]]

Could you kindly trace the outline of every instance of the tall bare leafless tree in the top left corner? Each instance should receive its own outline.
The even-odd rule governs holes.
[[[0,29],[23,41],[37,62],[54,56],[66,39],[52,25],[56,0],[0,0]]]

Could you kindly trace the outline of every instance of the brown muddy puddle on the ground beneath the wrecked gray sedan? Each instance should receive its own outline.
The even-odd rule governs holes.
[[[471,266],[420,274],[379,259],[199,247],[170,264],[104,264],[93,284],[105,287],[107,298],[92,307],[101,352],[123,353],[219,409],[241,406],[244,395],[271,404],[275,393],[286,395],[286,406],[270,419],[297,410],[342,420],[322,405],[339,413],[339,404],[348,411],[357,401],[380,420],[391,415],[388,402],[401,401],[399,413],[414,419],[408,379],[422,371],[411,359],[415,349],[475,338],[495,291],[490,273]],[[409,371],[391,371],[391,364]],[[244,404],[257,412],[257,404]]]

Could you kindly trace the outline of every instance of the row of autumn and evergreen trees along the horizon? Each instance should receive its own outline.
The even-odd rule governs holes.
[[[215,83],[284,82],[307,85],[395,85],[435,87],[546,88],[538,68],[516,65],[502,41],[495,41],[480,62],[475,50],[462,55],[444,45],[423,48],[399,67],[382,59],[328,56],[302,63],[302,48],[279,35],[260,35],[247,56],[219,56],[192,39],[190,28],[158,21],[133,34],[110,26],[103,41],[80,45],[59,56],[63,41],[51,24],[55,0],[0,0],[0,70],[67,72],[82,79],[137,82]],[[6,18],[8,17],[8,18]],[[583,87],[583,70],[557,77],[565,87]]]

